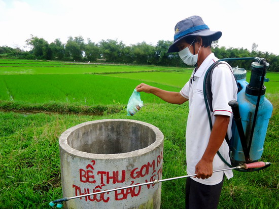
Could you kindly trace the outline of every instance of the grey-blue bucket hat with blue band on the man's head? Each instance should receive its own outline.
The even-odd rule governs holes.
[[[212,31],[199,16],[191,16],[177,23],[173,44],[168,48],[169,52],[179,52],[176,44],[187,36],[211,36],[212,40],[218,40],[222,35],[221,31]]]

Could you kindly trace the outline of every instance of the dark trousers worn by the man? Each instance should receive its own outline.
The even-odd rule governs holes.
[[[222,182],[216,185],[204,185],[192,180],[186,179],[186,209],[216,209],[223,187]]]

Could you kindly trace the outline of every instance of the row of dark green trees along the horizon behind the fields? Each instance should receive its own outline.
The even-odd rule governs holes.
[[[59,38],[48,43],[44,38],[31,35],[26,40],[30,51],[21,50],[19,47],[0,47],[0,58],[19,59],[40,59],[40,60],[61,60],[76,62],[108,62],[119,64],[159,65],[185,67],[178,53],[167,53],[172,41],[159,40],[153,46],[145,41],[134,45],[126,46],[118,40],[101,40],[94,43],[90,38],[85,42],[82,36],[69,36],[66,44]],[[270,64],[269,71],[279,72],[279,56],[268,52],[257,50],[253,43],[252,51],[243,48],[219,47],[218,41],[214,41],[212,51],[219,59],[229,57],[261,57]],[[233,67],[239,66],[245,69],[251,68],[251,61],[230,62]]]

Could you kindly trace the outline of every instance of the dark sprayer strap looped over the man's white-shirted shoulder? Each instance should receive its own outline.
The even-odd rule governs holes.
[[[226,62],[215,62],[213,63],[210,68],[209,71],[207,73],[207,76],[204,78],[205,79],[205,93],[206,93],[206,98],[208,101],[208,105],[210,106],[210,110],[213,112],[213,106],[212,106],[212,101],[213,101],[213,94],[212,94],[212,74],[213,74],[213,70],[220,64],[226,64],[228,65],[230,71],[232,72],[232,68],[231,66],[226,63]],[[232,72],[233,73],[233,72]],[[234,76],[233,76],[234,77]],[[235,79],[235,78],[234,78]],[[239,83],[236,81],[236,85],[237,85],[237,93],[240,92],[240,85]]]

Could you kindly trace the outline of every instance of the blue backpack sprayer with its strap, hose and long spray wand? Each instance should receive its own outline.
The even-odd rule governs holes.
[[[229,166],[229,168],[213,171],[214,173],[227,170],[236,170],[241,172],[259,171],[261,169],[267,168],[271,164],[270,162],[257,162],[261,158],[263,153],[263,144],[267,131],[268,121],[272,113],[272,105],[264,97],[266,88],[264,87],[263,83],[264,81],[268,81],[268,79],[265,78],[265,74],[266,69],[269,66],[265,59],[257,57],[226,58],[218,60],[210,68],[208,68],[204,76],[203,94],[204,100],[206,101],[205,105],[207,109],[208,120],[210,122],[210,127],[212,129],[212,121],[210,116],[210,111],[213,111],[211,76],[214,68],[217,65],[221,64],[222,61],[232,60],[255,60],[256,62],[252,63],[250,83],[246,81],[246,70],[235,70],[234,76],[236,78],[238,86],[237,101],[229,102],[229,105],[232,107],[234,117],[234,124],[232,127],[233,136],[230,140],[228,140],[228,137],[226,136],[226,141],[228,142],[230,147],[230,158],[232,165],[229,164],[219,152],[217,152],[220,158]],[[238,165],[235,166],[236,164]],[[64,197],[51,201],[49,205],[56,205],[56,207],[60,208],[63,206],[62,202],[71,199],[82,198],[85,196],[97,195],[101,193],[107,193],[143,185],[158,184],[164,181],[193,176],[196,176],[196,174],[155,180],[142,184],[130,185],[126,187],[104,190],[79,196]]]

